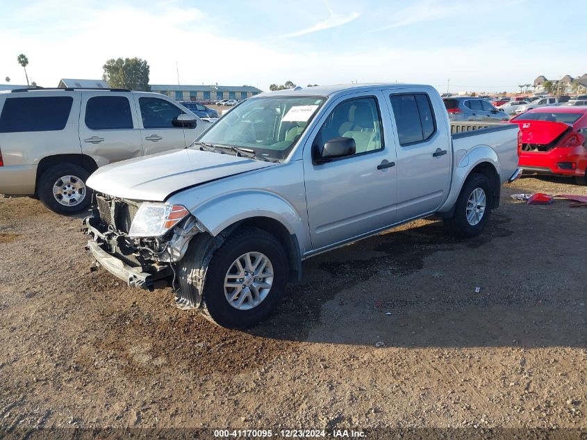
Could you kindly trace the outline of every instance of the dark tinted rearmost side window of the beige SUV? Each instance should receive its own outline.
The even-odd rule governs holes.
[[[6,98],[0,133],[63,130],[73,102],[70,96]]]

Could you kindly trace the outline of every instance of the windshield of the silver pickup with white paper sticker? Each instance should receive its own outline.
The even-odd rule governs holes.
[[[233,108],[196,142],[249,149],[259,158],[286,158],[325,97],[260,97]]]

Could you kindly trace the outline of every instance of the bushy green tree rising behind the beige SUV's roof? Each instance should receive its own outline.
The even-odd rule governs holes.
[[[102,78],[112,88],[151,91],[149,64],[140,58],[117,58],[106,61]]]

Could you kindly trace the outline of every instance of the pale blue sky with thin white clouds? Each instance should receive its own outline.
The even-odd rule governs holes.
[[[151,84],[427,83],[519,90],[587,73],[587,9],[532,0],[0,0],[0,84],[99,79],[138,57]],[[582,54],[582,55],[580,55]]]

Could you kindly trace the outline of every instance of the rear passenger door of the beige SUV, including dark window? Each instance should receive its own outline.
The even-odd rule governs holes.
[[[142,155],[138,117],[129,92],[81,92],[79,138],[98,166]]]

